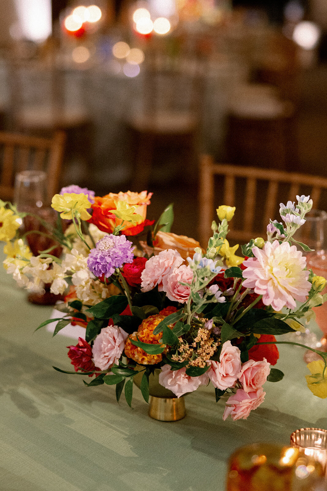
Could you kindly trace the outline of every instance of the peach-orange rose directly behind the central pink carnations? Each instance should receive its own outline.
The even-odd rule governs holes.
[[[143,250],[151,256],[159,254],[164,249],[174,249],[183,259],[187,257],[193,258],[195,247],[200,247],[198,241],[186,237],[185,235],[176,235],[172,232],[159,232],[153,240],[153,247],[147,246],[145,242],[140,242]]]

